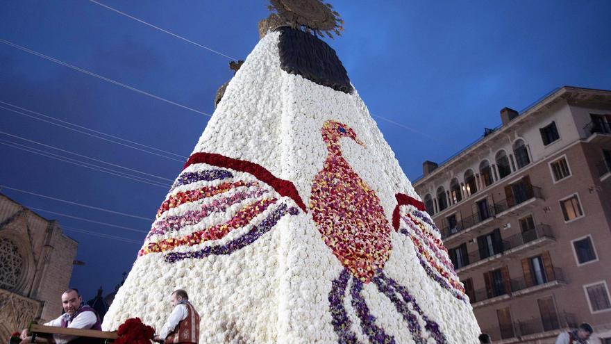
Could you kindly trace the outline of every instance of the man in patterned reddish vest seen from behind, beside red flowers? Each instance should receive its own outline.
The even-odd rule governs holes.
[[[158,336],[153,341],[161,343],[199,343],[199,314],[189,302],[189,295],[182,289],[171,293],[174,310],[167,318]]]

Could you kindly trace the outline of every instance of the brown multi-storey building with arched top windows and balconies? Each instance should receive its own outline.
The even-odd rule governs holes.
[[[414,187],[480,328],[494,343],[554,343],[580,322],[611,343],[611,91],[563,87]]]

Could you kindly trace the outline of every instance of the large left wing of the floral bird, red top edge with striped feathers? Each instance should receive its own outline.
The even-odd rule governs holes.
[[[274,177],[265,167],[196,153],[171,186],[138,255],[163,253],[173,263],[231,254],[299,208],[305,211],[293,183]]]

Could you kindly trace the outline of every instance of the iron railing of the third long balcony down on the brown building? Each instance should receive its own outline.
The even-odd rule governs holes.
[[[531,288],[533,286],[539,286],[542,284],[546,284],[552,281],[566,281],[564,279],[564,273],[561,268],[552,268],[551,276],[548,276],[547,273],[544,273],[542,279],[537,280],[535,277],[531,277],[532,286],[528,286],[526,284],[526,279],[524,277],[518,277],[511,279],[506,283],[505,281],[491,281],[491,286],[489,289],[483,288],[474,290],[473,295],[469,295],[471,303],[480,302],[484,300],[489,300],[494,297],[499,297],[503,295],[512,295],[512,293],[516,293],[520,290],[524,290],[526,288]],[[471,298],[471,296],[474,296]]]

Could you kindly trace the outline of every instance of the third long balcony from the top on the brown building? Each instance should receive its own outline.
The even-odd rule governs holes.
[[[474,300],[470,300],[471,306],[473,306],[473,308],[487,306],[489,304],[494,304],[503,300],[509,300],[514,297],[520,297],[523,295],[535,293],[539,290],[546,290],[549,288],[555,288],[557,286],[562,286],[566,284],[566,279],[564,279],[564,273],[562,273],[562,269],[552,269],[553,273],[551,274],[551,276],[546,276],[545,281],[543,283],[536,284],[536,280],[533,279],[533,283],[535,283],[533,286],[528,286],[524,277],[518,277],[516,279],[511,279],[510,290],[506,290],[504,284],[499,284],[496,286],[496,288],[491,288],[489,290],[486,290],[485,288],[475,290]]]

